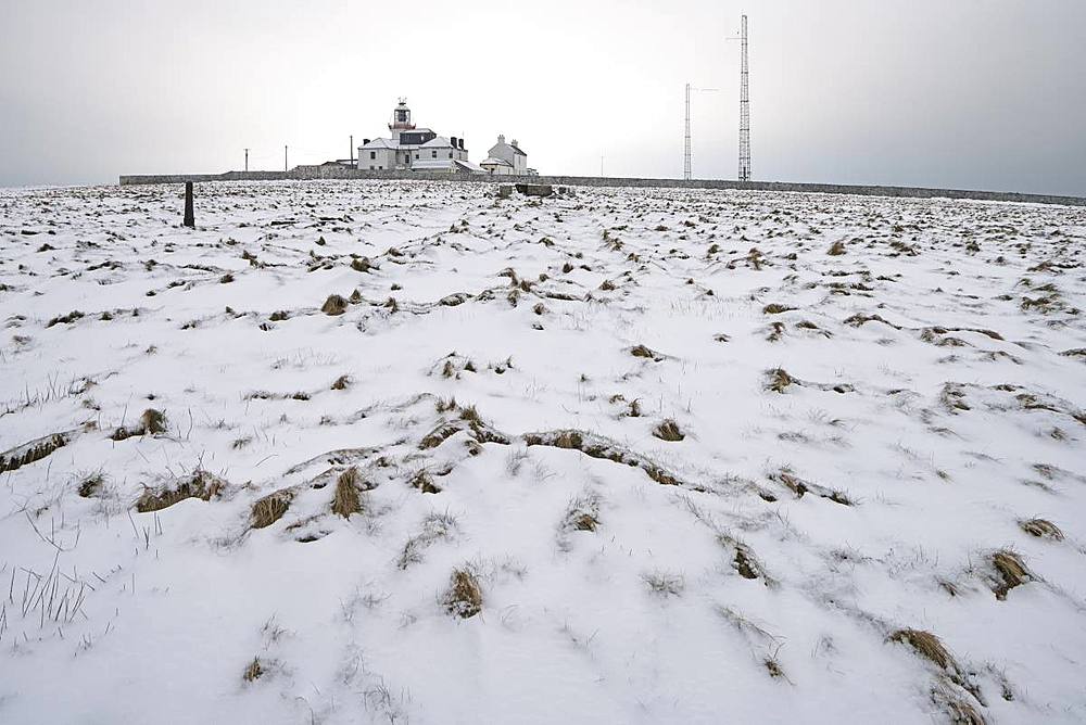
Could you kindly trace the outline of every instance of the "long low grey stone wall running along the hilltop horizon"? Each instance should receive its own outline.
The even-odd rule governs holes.
[[[733,181],[728,179],[643,179],[598,176],[490,176],[422,171],[370,171],[345,166],[296,166],[289,171],[227,171],[225,174],[172,174],[122,176],[121,185],[182,183],[185,181],[307,181],[315,179],[383,179],[467,181],[475,183],[550,183],[568,187],[649,187],[661,189],[742,189],[747,191],[798,191],[823,194],[860,194],[866,196],[906,196],[912,199],[975,199],[980,201],[1026,202],[1086,206],[1086,198],[1050,194],[1022,194],[1005,191],[970,191],[965,189],[925,189],[922,187],[870,187],[841,183],[790,183],[786,181]]]

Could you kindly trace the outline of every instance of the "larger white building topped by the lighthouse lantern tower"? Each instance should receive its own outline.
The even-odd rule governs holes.
[[[365,139],[358,147],[358,168],[363,170],[446,171],[481,174],[482,168],[468,161],[464,139],[438,136],[429,128],[416,128],[405,99],[392,112],[391,138]]]

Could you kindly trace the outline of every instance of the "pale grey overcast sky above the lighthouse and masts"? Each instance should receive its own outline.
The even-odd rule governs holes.
[[[1084,0],[0,0],[0,185],[345,157],[415,122],[543,174],[1086,195]]]

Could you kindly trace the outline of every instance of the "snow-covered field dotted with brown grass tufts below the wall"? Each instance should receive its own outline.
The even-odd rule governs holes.
[[[197,192],[0,191],[0,722],[1086,720],[1086,209]]]

